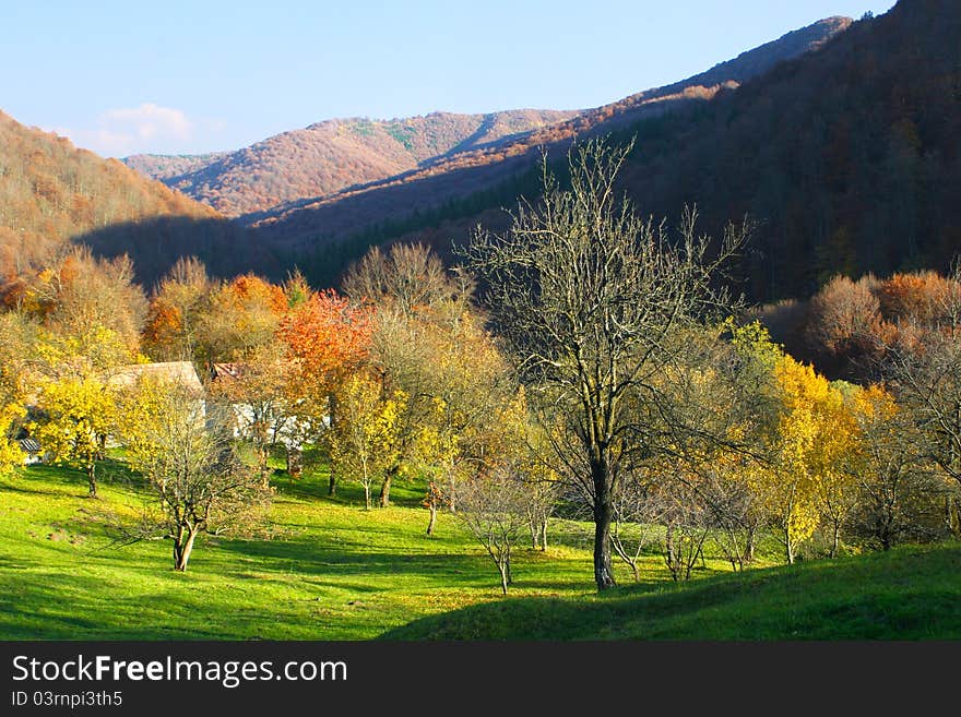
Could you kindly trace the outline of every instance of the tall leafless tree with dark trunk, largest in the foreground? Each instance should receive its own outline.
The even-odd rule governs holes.
[[[560,439],[557,457],[590,501],[598,589],[615,584],[610,528],[622,468],[651,449],[628,398],[656,394],[655,377],[683,350],[668,337],[723,302],[714,279],[747,231],[728,228],[711,247],[696,234],[692,211],[677,237],[639,217],[615,189],[630,150],[603,140],[576,145],[570,189],[545,157],[542,202],[522,203],[502,235],[478,227],[464,250],[487,282],[486,303],[521,374],[576,437]]]

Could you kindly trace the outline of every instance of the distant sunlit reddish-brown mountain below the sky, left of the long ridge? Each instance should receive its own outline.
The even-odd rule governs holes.
[[[489,115],[432,112],[388,121],[334,119],[236,152],[133,155],[123,162],[236,217],[384,179],[574,115],[521,109]]]

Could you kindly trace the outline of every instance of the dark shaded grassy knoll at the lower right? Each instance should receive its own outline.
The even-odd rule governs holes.
[[[901,548],[686,586],[477,605],[392,640],[958,640],[961,548]]]

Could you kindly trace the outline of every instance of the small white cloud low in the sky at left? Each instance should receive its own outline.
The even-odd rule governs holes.
[[[182,110],[144,103],[103,112],[96,128],[58,128],[57,132],[97,154],[122,157],[140,152],[176,153],[193,139],[194,129]]]

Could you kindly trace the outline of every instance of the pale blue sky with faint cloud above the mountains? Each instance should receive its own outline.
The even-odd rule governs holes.
[[[105,156],[333,117],[578,109],[893,0],[2,0],[0,109]]]

